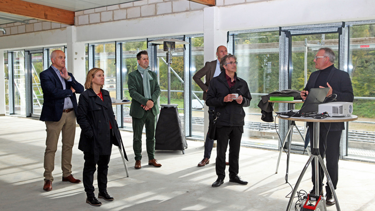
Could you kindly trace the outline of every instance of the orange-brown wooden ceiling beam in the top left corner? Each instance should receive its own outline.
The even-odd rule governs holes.
[[[21,0],[0,0],[0,12],[74,25],[74,12]]]

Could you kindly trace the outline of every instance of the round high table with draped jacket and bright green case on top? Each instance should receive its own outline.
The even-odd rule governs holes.
[[[286,100],[285,101],[284,100],[269,100],[268,102],[288,103],[288,110],[293,110],[294,109],[294,104],[296,104],[296,103],[302,103],[303,101],[302,100],[288,100],[288,101],[286,101]],[[285,137],[284,137],[284,139],[283,139],[283,141],[281,143],[280,149],[279,149],[280,152],[279,152],[278,164],[276,165],[276,172],[275,172],[275,173],[278,173],[281,154],[282,154],[283,149],[285,148],[285,143],[287,143],[287,140],[288,140],[287,173],[285,174],[285,183],[288,182],[290,147],[291,147],[291,143],[292,143],[292,135],[293,135],[293,128],[294,127],[296,127],[298,133],[302,137],[303,145],[305,145],[305,139],[303,138],[300,130],[297,128],[296,122],[290,121],[290,125],[289,125],[289,128],[288,128],[287,134],[285,134]],[[289,139],[288,139],[288,137],[289,137]],[[311,155],[310,150],[308,148],[306,148],[306,149],[307,149],[307,152],[308,152],[308,154],[310,156]]]

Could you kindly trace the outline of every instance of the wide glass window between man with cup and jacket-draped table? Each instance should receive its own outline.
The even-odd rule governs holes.
[[[279,89],[279,32],[236,34],[234,42],[237,75],[248,83],[252,96],[250,106],[244,108],[242,142],[277,147],[275,125],[261,120],[261,110],[257,105],[262,95]]]

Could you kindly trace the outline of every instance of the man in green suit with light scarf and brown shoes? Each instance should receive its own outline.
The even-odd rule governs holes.
[[[144,125],[146,127],[148,165],[160,167],[162,165],[157,162],[154,156],[156,115],[160,112],[156,100],[160,95],[160,87],[157,83],[156,73],[150,71],[150,66],[148,66],[147,51],[139,52],[137,61],[137,70],[130,72],[127,80],[129,94],[132,98],[130,116],[132,116],[133,121],[134,168],[141,168],[142,130]]]

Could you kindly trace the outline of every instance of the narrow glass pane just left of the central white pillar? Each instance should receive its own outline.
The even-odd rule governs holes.
[[[191,38],[191,75],[194,75],[196,72],[199,71],[204,66],[204,51],[203,51],[203,37],[193,37]],[[202,78],[202,80],[205,80],[205,77]],[[198,84],[195,83],[194,80],[192,80],[192,122],[191,122],[191,128],[192,128],[192,136],[198,136],[204,138],[204,109],[203,105],[203,91],[198,86]]]

